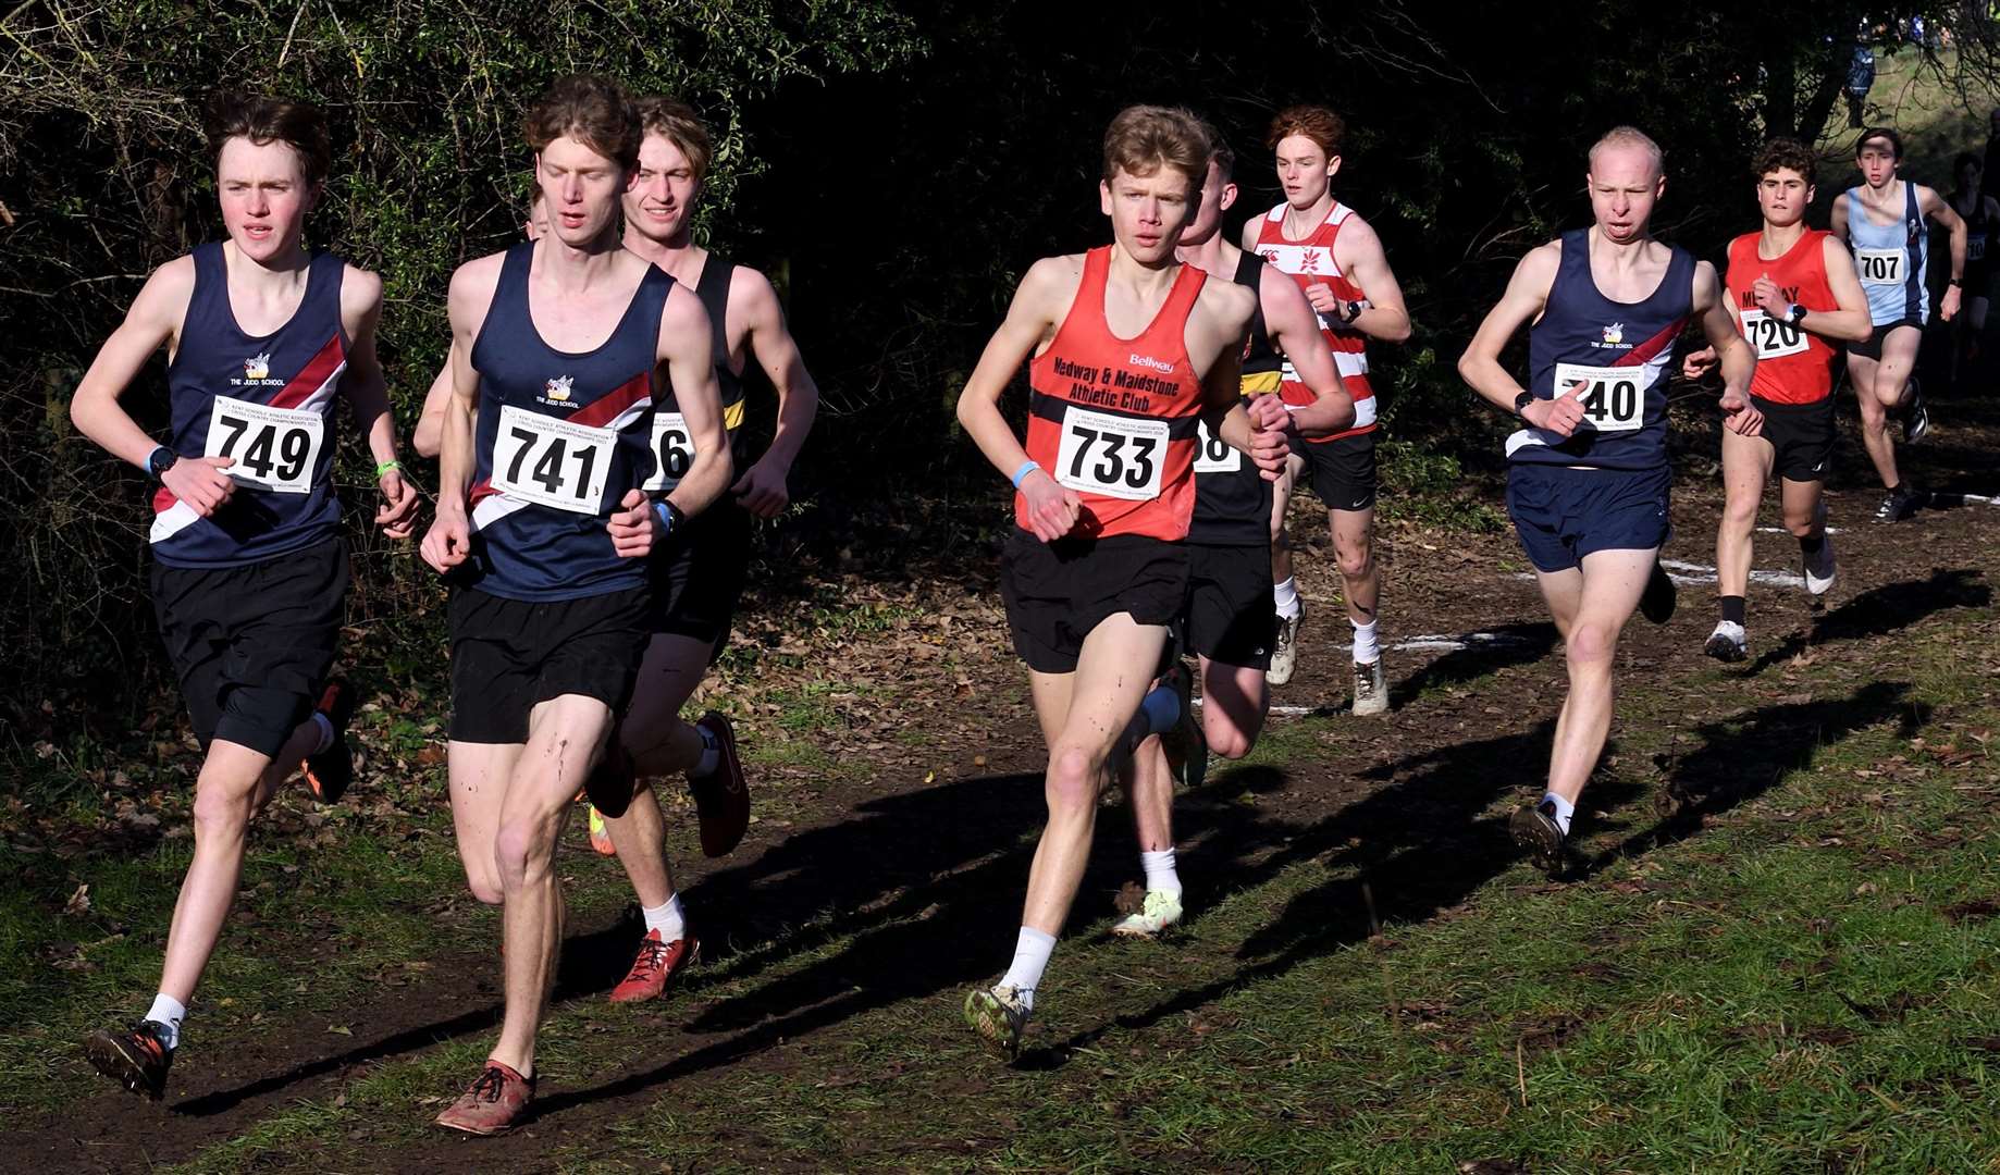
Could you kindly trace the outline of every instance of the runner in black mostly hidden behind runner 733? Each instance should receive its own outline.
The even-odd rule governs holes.
[[[1214,144],[1202,204],[1180,234],[1176,256],[1208,276],[1228,276],[1258,292],[1244,348],[1240,388],[1244,400],[1278,390],[1280,368],[1290,360],[1314,402],[1290,414],[1290,432],[1326,436],[1354,424],[1334,356],[1320,322],[1298,286],[1230,244],[1222,212],[1236,204],[1232,172],[1236,152],[1216,128],[1202,124]],[[1270,649],[1278,637],[1278,611],[1270,593],[1270,482],[1242,454],[1216,440],[1206,426],[1196,434],[1194,518],[1188,524],[1188,599],[1176,621],[1180,647],[1192,647],[1202,681],[1202,747],[1180,761],[1178,783],[1198,787],[1206,751],[1240,759],[1256,745],[1270,709]],[[1180,651],[1176,647],[1176,661]],[[1178,671],[1178,665],[1176,665]],[[1178,683],[1178,677],[1176,677]],[[1140,867],[1146,871],[1142,907],[1112,925],[1114,935],[1152,937],[1180,921],[1180,873],[1174,863],[1174,773],[1158,735],[1132,755],[1132,821],[1138,831]]]

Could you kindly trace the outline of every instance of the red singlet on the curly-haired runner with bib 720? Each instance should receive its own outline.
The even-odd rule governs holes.
[[[1812,312],[1840,310],[1834,288],[1826,284],[1824,230],[1808,228],[1798,242],[1776,260],[1756,254],[1760,232],[1746,232],[1730,242],[1730,272],[1724,284],[1742,318],[1744,338],[1756,352],[1756,378],[1750,392],[1772,404],[1818,404],[1834,394],[1834,346],[1824,338],[1758,310],[1752,288],[1770,274],[1786,302]]]

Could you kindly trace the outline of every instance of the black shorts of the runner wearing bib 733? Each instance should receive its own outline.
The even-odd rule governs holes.
[[[1044,544],[1016,528],[1000,552],[1000,597],[1014,649],[1036,673],[1070,673],[1108,615],[1168,625],[1188,593],[1188,546],[1120,534]]]

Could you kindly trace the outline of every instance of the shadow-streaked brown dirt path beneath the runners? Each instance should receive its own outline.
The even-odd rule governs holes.
[[[1912,454],[1918,482],[1952,496],[2000,496],[2000,472],[1990,460],[2000,452],[2000,410],[1990,402],[1944,402],[1936,416],[1938,442]],[[1968,502],[1910,524],[1876,526],[1870,516],[1878,494],[1858,478],[1864,466],[1852,432],[1842,468],[1848,478],[1834,484],[1832,498],[1842,582],[1828,611],[1808,613],[1796,588],[1752,588],[1754,659],[1732,671],[1726,689],[1644,713],[1620,709],[1594,807],[1616,811],[1646,791],[1650,775],[1616,761],[1620,741],[1670,739],[1746,713],[1766,715],[1760,721],[1776,723],[1772,729],[1808,719],[1824,725],[1828,715],[1812,707],[1826,701],[1814,701],[1810,681],[1798,681],[1808,653],[1808,663],[1816,657],[1844,665],[1844,675],[1860,683],[1850,701],[1866,701],[1874,707],[1864,707],[1868,713],[1892,709],[1892,699],[1866,693],[1870,663],[1888,655],[1904,627],[1992,599],[2000,504]],[[1712,667],[1700,643],[1714,623],[1714,588],[1700,580],[1714,562],[1718,508],[1714,478],[1684,478],[1676,540],[1666,552],[1686,580],[1680,609],[1664,627],[1632,621],[1622,673],[1652,681]],[[1766,524],[1772,520],[1768,504]],[[1286,747],[1282,761],[1218,773],[1216,783],[1180,803],[1184,873],[1198,879],[1190,885],[1240,891],[1290,861],[1348,855],[1372,863],[1370,901],[1380,901],[1374,915],[1408,921],[1448,913],[1514,867],[1504,837],[1492,835],[1490,809],[1538,785],[1562,689],[1556,635],[1526,564],[1510,534],[1466,538],[1398,528],[1384,532],[1382,564],[1396,711],[1368,725],[1344,713],[1348,661],[1338,584],[1328,554],[1308,552],[1302,588],[1312,613],[1302,669],[1274,701],[1330,713],[1338,725],[1274,717],[1272,741]],[[1792,540],[1760,534],[1756,568],[1796,574]],[[990,977],[1032,853],[1028,837],[1040,821],[1042,751],[996,601],[978,589],[980,576],[964,586],[932,586],[914,623],[930,631],[936,615],[952,613],[938,627],[956,625],[952,641],[940,645],[960,653],[956,673],[922,673],[938,657],[912,651],[922,643],[906,639],[912,625],[856,637],[842,653],[842,675],[882,683],[862,695],[860,717],[850,715],[840,735],[840,753],[868,759],[874,769],[780,771],[786,787],[772,789],[774,803],[734,857],[710,863],[682,855],[682,889],[708,927],[706,965],[726,967],[734,995],[718,995],[696,973],[672,999],[638,1013],[650,1047],[608,1071],[554,1075],[540,1091],[538,1117],[512,1141],[472,1143],[472,1151],[454,1137],[422,1135],[412,1143],[408,1131],[376,1139],[358,1127],[348,1137],[316,1139],[318,1153],[296,1153],[288,1165],[436,1171],[476,1161],[482,1171],[542,1171],[564,1145],[676,1097],[686,1081],[718,1071],[780,1081],[800,1071],[814,1075],[822,1057],[854,1043],[852,1025],[862,1017],[898,1007],[924,1007],[930,1017],[930,1003]],[[1316,753],[1316,743],[1338,747],[1338,755]],[[1722,775],[1718,763],[1710,767]],[[1658,795],[1654,801],[1660,811],[1670,807]],[[1622,815],[1612,831],[1642,825],[1652,819]],[[1412,827],[1424,829],[1424,851],[1394,849],[1410,841]],[[1080,923],[1100,921],[1102,899],[1132,873],[1122,811],[1106,813],[1104,833]],[[1602,851],[1622,847],[1612,835]],[[596,865],[608,869],[570,859],[566,871]],[[1198,917],[1200,905],[1192,913]],[[1228,983],[1260,967],[1284,967],[1302,943],[1366,933],[1366,915],[1352,901],[1330,921],[1338,925],[1280,919],[1262,935],[1262,961],[1232,971]],[[802,925],[810,929],[794,931]],[[602,999],[626,959],[630,927],[600,917],[580,921],[572,935],[558,999]],[[850,945],[814,955],[838,937]],[[1180,985],[1170,999],[1136,1015],[1108,1005],[1104,1015],[1144,1029],[1194,1013],[1226,989],[1204,981],[1210,975],[1190,967],[1174,977]],[[358,1011],[352,1037],[328,1035],[318,1023],[268,1023],[234,1039],[226,1055],[204,1049],[198,1065],[176,1073],[162,1109],[102,1093],[16,1123],[0,1137],[0,1167],[126,1171],[186,1163],[284,1107],[342,1105],[344,1089],[376,1067],[408,1061],[440,1041],[488,1035],[498,1021],[494,981],[484,949],[434,959],[416,981]],[[1064,1053],[1100,1031],[1038,1043]],[[984,1079],[964,1073],[956,1081],[964,1093],[978,1093]],[[410,1117],[428,1113],[412,1109]],[[972,1125],[968,1131],[976,1133]],[[756,1153],[736,1151],[728,1139],[704,1139],[700,1151],[738,1159]]]

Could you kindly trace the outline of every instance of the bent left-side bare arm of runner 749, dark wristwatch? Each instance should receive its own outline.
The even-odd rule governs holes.
[[[178,346],[190,298],[194,298],[194,258],[176,258],[154,270],[126,310],[124,322],[98,348],[98,356],[70,398],[70,422],[76,424],[76,432],[140,470],[160,442],[126,414],[118,398],[146,370],[156,350],[172,352]],[[236,484],[222,474],[232,464],[236,462],[230,458],[188,454],[166,472],[162,484],[168,494],[208,518],[236,490]]]

